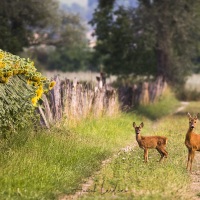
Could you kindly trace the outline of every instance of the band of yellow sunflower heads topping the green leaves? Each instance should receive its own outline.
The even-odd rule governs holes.
[[[48,80],[37,72],[33,61],[0,49],[0,83],[7,83],[15,75],[24,75],[27,83],[35,88],[35,96],[32,98],[32,104],[37,105],[38,100],[44,92],[51,90],[55,81]]]

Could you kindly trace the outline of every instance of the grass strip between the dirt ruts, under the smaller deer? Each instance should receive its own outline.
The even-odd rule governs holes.
[[[184,145],[188,128],[187,116],[171,116],[147,123],[143,135],[158,134],[169,138],[169,157],[162,163],[156,150],[149,151],[149,163],[143,162],[143,150],[138,146],[122,152],[110,165],[94,177],[94,184],[83,199],[190,199],[190,178],[186,171],[187,149]]]

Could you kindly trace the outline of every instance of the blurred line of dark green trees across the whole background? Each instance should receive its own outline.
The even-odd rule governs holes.
[[[97,39],[91,50],[83,21],[57,0],[1,0],[0,48],[23,52],[47,70],[103,66],[109,74],[183,84],[199,70],[199,10],[194,0],[137,0],[136,7],[99,0],[90,21]]]

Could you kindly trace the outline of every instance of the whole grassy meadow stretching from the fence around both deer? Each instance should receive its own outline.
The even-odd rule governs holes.
[[[168,105],[166,109],[163,109]],[[67,199],[92,177],[82,199],[188,199],[191,179],[186,171],[188,128],[186,112],[200,110],[198,102],[174,115],[180,106],[172,93],[156,104],[78,123],[63,119],[50,130],[25,127],[0,141],[0,199]],[[162,112],[160,113],[160,111]],[[155,150],[143,162],[132,123],[144,122],[143,135],[169,138],[169,158],[158,163]],[[200,127],[200,126],[199,126]],[[200,132],[200,131],[199,131]],[[135,146],[131,151],[122,148]],[[118,155],[114,156],[113,155]],[[102,167],[102,161],[111,162]],[[195,161],[197,166],[197,161]],[[194,170],[196,168],[194,167]],[[97,175],[94,173],[99,171]]]

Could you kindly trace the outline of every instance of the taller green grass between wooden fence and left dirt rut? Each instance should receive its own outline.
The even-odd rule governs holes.
[[[101,161],[132,142],[135,115],[80,122],[0,143],[0,199],[55,199],[76,191]]]

